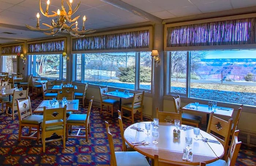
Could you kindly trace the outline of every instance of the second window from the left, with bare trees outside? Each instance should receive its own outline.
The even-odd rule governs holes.
[[[60,54],[32,55],[31,74],[45,78],[65,79],[66,63],[61,58]],[[60,70],[61,68],[63,70]]]

